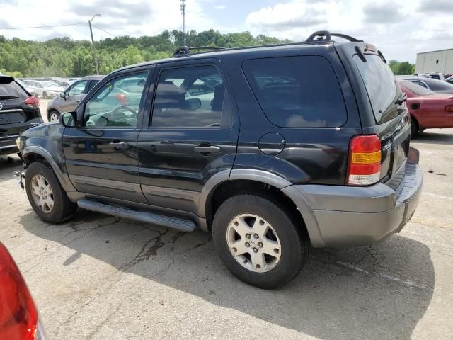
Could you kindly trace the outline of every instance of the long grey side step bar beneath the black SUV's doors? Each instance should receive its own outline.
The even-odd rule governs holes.
[[[178,217],[168,217],[165,215],[155,214],[153,212],[135,211],[126,208],[114,207],[96,202],[94,200],[86,200],[84,198],[77,201],[80,208],[95,212],[102,212],[107,215],[116,217],[129,218],[139,222],[151,223],[153,225],[161,225],[162,227],[173,228],[180,232],[193,232],[195,223],[190,220],[184,220]]]

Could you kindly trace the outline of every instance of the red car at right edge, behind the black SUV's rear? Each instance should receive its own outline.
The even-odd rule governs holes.
[[[407,80],[398,80],[408,96],[411,135],[430,128],[453,128],[453,94],[435,93]]]

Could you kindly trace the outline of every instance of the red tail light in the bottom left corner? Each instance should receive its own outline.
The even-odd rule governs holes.
[[[8,250],[0,243],[0,339],[43,340],[38,310]]]

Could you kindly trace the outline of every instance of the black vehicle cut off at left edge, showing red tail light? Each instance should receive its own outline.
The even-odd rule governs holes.
[[[13,77],[0,76],[0,154],[18,152],[19,134],[41,123],[38,98],[25,91]]]

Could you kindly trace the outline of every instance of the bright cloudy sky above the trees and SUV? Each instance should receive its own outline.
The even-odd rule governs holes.
[[[316,30],[352,35],[387,60],[415,62],[416,53],[453,48],[453,0],[187,0],[188,30],[249,31],[303,41]],[[181,30],[180,0],[0,0],[0,35],[29,40],[69,36],[156,35]],[[11,29],[67,25],[54,28]],[[10,28],[10,29],[6,29]]]

